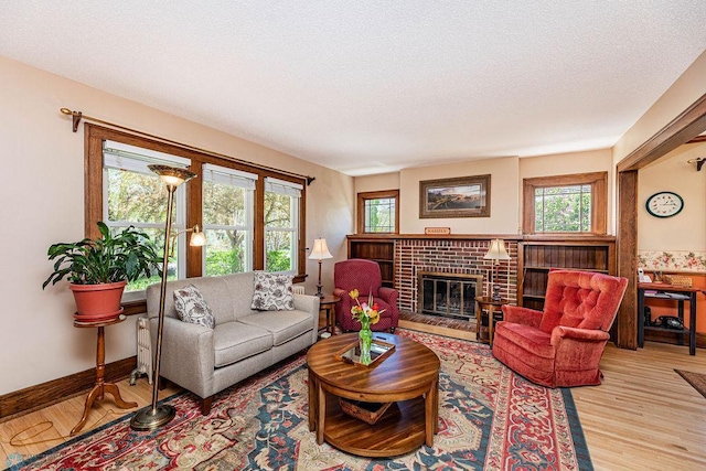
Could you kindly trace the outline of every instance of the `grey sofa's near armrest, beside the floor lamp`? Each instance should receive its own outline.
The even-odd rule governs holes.
[[[150,333],[156,349],[157,318],[150,319]],[[213,394],[214,370],[213,329],[165,317],[160,375],[200,397],[207,397]]]

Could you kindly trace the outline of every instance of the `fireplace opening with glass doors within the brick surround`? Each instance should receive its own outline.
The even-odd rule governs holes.
[[[424,271],[418,287],[421,313],[471,320],[475,319],[475,297],[483,293],[483,276]]]

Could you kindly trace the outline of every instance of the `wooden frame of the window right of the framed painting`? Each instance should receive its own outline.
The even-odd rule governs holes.
[[[535,191],[541,188],[591,185],[590,232],[536,232]],[[523,234],[546,236],[606,235],[608,231],[608,172],[574,173],[568,175],[523,179]]]

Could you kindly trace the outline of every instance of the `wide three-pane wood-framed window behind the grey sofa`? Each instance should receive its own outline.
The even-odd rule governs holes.
[[[179,236],[170,276],[269,268],[303,280],[306,254],[299,249],[306,240],[303,176],[93,124],[85,125],[85,135],[87,237],[98,236],[96,222],[104,221],[116,229],[135,225],[163,247],[167,190],[147,165],[188,167],[197,178],[176,190],[172,229],[200,225],[207,244],[190,247],[189,236]],[[137,290],[147,283],[135,286],[139,302],[128,303],[126,313],[145,312],[143,291]],[[127,295],[124,300],[129,301]]]

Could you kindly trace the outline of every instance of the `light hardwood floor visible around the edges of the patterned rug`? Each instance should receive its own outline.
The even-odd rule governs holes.
[[[470,331],[406,320],[400,327],[475,338]],[[706,374],[706,351],[699,349],[696,356],[689,356],[687,346],[646,342],[644,349],[631,351],[611,344],[601,368],[606,375],[602,385],[571,389],[597,470],[706,469],[706,398],[674,372],[680,368]],[[136,400],[140,407],[149,404],[151,386],[145,377],[136,386],[127,379],[119,386],[125,400]],[[160,392],[160,398],[176,390],[170,387]],[[10,465],[20,454],[36,454],[66,441],[81,418],[84,402],[85,395],[0,422],[0,464]],[[94,407],[85,430],[135,410],[118,409],[106,399]],[[18,439],[32,445],[11,446],[10,438],[22,430],[26,431]]]

